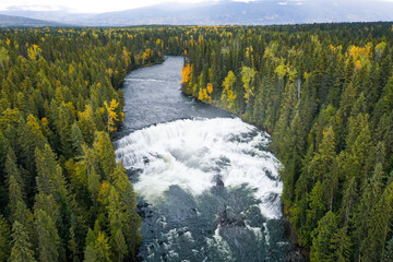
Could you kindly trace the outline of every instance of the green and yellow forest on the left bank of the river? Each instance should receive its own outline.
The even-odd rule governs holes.
[[[0,261],[133,260],[141,218],[111,138],[127,72],[177,51],[166,35],[1,29]]]

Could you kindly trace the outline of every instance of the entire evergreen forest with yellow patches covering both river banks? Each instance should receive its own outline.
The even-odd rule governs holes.
[[[186,94],[272,135],[311,261],[393,261],[393,26],[4,28],[0,261],[133,261],[111,139],[126,74],[183,55]]]

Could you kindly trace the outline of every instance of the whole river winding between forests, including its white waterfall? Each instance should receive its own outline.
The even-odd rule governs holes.
[[[270,136],[180,91],[183,58],[132,71],[115,141],[138,193],[143,261],[286,261]]]

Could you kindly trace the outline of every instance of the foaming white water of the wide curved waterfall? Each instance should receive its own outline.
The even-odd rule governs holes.
[[[282,216],[278,160],[261,150],[266,133],[235,118],[177,120],[138,130],[115,143],[117,160],[141,169],[134,189],[148,202],[159,201],[169,186],[201,194],[216,184],[248,184],[266,218]],[[269,174],[269,176],[266,175]]]

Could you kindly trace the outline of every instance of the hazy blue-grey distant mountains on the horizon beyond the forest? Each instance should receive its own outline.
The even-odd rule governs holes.
[[[222,0],[203,3],[168,2],[99,14],[10,9],[0,13],[81,26],[269,25],[322,22],[393,21],[393,2],[382,0]]]

